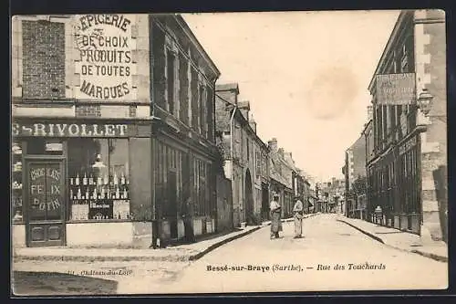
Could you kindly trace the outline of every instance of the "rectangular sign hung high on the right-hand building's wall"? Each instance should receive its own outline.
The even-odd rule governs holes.
[[[383,74],[376,76],[378,104],[406,105],[415,100],[415,74]]]

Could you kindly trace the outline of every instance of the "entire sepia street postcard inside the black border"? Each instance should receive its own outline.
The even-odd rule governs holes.
[[[12,297],[448,288],[443,10],[11,29]]]

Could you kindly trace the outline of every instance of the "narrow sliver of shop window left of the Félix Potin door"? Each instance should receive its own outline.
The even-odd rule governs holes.
[[[23,209],[22,209],[22,146],[20,143],[13,142],[12,146],[12,215],[14,223],[22,223]]]

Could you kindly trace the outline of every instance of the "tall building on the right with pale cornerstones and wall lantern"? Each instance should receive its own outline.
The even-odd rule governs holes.
[[[447,225],[436,196],[447,181],[434,178],[447,163],[445,54],[444,12],[402,11],[369,85],[368,211],[380,206],[383,225],[434,239]]]

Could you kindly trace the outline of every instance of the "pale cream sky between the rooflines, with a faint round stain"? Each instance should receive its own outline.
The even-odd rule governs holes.
[[[222,75],[249,100],[257,134],[316,182],[342,177],[368,121],[368,84],[399,11],[182,15]]]

